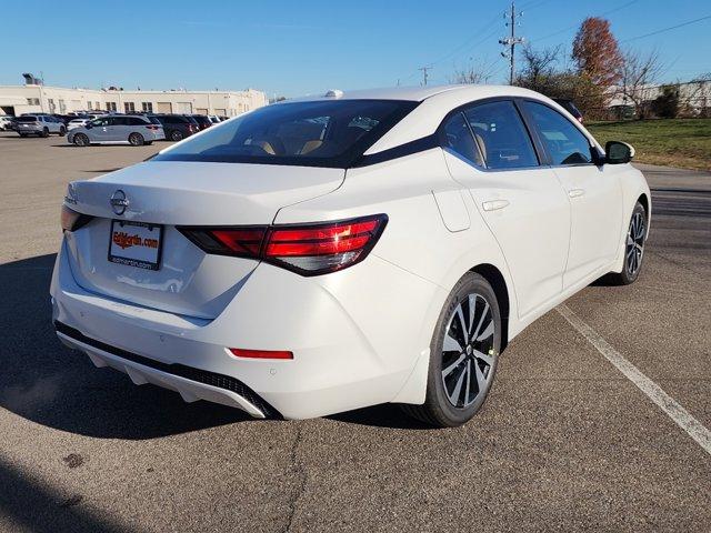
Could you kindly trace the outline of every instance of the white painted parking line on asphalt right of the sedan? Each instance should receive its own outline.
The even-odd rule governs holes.
[[[564,303],[558,305],[555,310],[581,333],[588,342],[604,355],[628,380],[634,383],[640,391],[654,402],[662,411],[664,411],[679,428],[684,430],[697,443],[708,453],[711,454],[711,432],[689,411],[682,408],[673,398],[667,394],[661,386],[647,378],[640,370],[624,359],[620,352],[612,348],[600,334],[585,324],[580,316]]]

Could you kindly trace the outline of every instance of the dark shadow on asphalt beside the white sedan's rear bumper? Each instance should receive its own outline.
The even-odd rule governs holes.
[[[0,265],[0,408],[32,422],[99,438],[143,440],[250,421],[237,409],[184,403],[153,385],[96,369],[64,348],[51,323],[49,284],[54,254]]]

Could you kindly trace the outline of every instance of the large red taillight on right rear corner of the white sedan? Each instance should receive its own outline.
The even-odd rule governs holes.
[[[377,214],[314,224],[179,230],[208,253],[257,259],[301,275],[318,275],[365,259],[387,223],[385,214]]]

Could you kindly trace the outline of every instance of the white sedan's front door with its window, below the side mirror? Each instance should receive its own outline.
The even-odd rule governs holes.
[[[590,140],[567,117],[543,102],[525,100],[522,107],[570,202],[570,251],[563,274],[568,288],[614,261],[622,224],[621,185],[604,165],[593,162]]]

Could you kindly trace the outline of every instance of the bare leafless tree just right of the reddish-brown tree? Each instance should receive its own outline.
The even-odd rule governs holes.
[[[622,58],[618,95],[625,102],[632,102],[638,117],[642,118],[645,114],[644,102],[653,100],[657,95],[652,86],[662,73],[663,66],[657,50],[647,54],[628,50]]]

